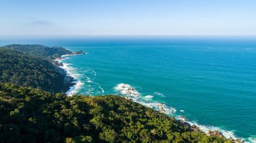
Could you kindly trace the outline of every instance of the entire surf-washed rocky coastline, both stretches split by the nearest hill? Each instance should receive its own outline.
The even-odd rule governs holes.
[[[57,61],[60,66],[58,66],[59,68],[63,69],[66,73],[67,77],[71,77],[72,80],[72,84],[69,87],[68,91],[66,92],[67,96],[73,96],[74,94],[77,93],[77,91],[80,89],[81,86],[83,86],[83,82],[77,80],[77,77],[79,77],[79,75],[75,76],[74,74],[72,74],[70,72],[70,70],[76,70],[75,68],[70,67],[70,64],[67,63],[63,63],[63,61],[65,59],[68,59],[69,56],[79,56],[81,54],[67,54],[67,55],[63,55],[60,58],[54,59],[54,61]],[[122,85],[124,86],[124,85]],[[120,87],[119,87],[120,88]],[[122,88],[122,87],[121,87]],[[194,130],[195,132],[204,132],[207,135],[211,135],[211,136],[221,136],[221,137],[225,137],[226,139],[230,139],[232,140],[232,142],[247,142],[245,141],[246,139],[243,138],[239,138],[236,137],[236,135],[234,135],[233,132],[227,131],[227,130],[223,130],[221,128],[218,127],[214,127],[214,126],[205,126],[202,124],[198,124],[196,122],[193,121],[189,121],[188,119],[186,119],[186,117],[179,115],[179,116],[174,116],[173,114],[175,114],[176,109],[174,109],[173,107],[168,107],[167,105],[165,105],[164,103],[161,102],[153,102],[152,103],[146,103],[140,100],[140,93],[138,93],[138,91],[136,91],[136,89],[134,89],[133,87],[129,86],[129,87],[125,87],[127,88],[128,91],[125,91],[123,89],[116,89],[116,90],[120,90],[122,95],[129,95],[129,96],[124,96],[124,98],[128,99],[128,100],[132,100],[133,102],[136,103],[140,103],[141,105],[144,105],[145,107],[150,107],[154,110],[157,110],[159,112],[162,112],[168,116],[173,116],[175,117],[175,119],[179,120],[182,124],[187,124],[191,127],[191,130]]]

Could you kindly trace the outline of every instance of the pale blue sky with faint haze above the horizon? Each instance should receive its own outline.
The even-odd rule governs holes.
[[[0,36],[256,35],[255,0],[0,0]]]

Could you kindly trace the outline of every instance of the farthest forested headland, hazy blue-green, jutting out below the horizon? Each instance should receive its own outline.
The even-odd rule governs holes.
[[[72,54],[70,50],[62,47],[46,47],[44,45],[20,45],[12,44],[1,47],[3,49],[15,50],[24,54],[54,59],[64,54]]]

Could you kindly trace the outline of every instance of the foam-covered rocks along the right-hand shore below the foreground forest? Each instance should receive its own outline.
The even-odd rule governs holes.
[[[151,97],[150,95],[141,96],[141,94],[136,90],[136,88],[132,87],[129,84],[121,83],[116,85],[114,89],[115,91],[120,93],[120,95],[124,96],[124,98],[127,100],[132,100],[133,102],[140,103],[145,107],[149,107],[168,116],[175,117],[175,119],[180,121],[182,124],[189,125],[191,127],[191,130],[194,130],[195,132],[204,132],[207,135],[211,136],[225,137],[226,139],[230,139],[232,140],[232,142],[237,143],[247,142],[246,139],[236,137],[236,135],[234,135],[234,132],[223,130],[215,126],[205,126],[202,124],[198,124],[195,121],[189,121],[189,119],[187,119],[185,116],[177,115],[177,110],[173,107],[168,107],[165,103],[157,101],[148,102],[147,98]],[[163,96],[163,94],[161,94],[161,96]],[[182,110],[182,112],[184,112],[184,110]]]

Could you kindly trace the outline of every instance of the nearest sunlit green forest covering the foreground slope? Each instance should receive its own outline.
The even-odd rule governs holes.
[[[231,142],[120,96],[0,84],[1,142]]]

